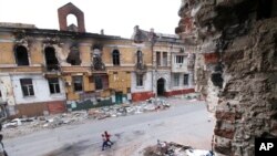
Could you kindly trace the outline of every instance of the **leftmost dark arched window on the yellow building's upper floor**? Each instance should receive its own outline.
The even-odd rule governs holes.
[[[27,48],[23,45],[18,45],[16,48],[16,61],[18,65],[29,65]]]

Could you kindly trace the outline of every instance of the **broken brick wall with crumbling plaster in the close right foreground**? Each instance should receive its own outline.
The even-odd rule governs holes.
[[[215,114],[216,155],[277,137],[277,1],[182,0],[175,32],[196,53],[196,91]]]

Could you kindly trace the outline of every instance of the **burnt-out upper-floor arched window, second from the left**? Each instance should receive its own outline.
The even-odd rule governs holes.
[[[44,49],[45,63],[48,71],[59,70],[59,61],[55,58],[54,48],[48,46]]]

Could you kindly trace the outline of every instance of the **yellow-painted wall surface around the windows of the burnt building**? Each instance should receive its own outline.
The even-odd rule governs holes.
[[[29,37],[32,39],[32,42],[29,42],[28,50],[30,54],[30,63],[33,64],[44,64],[44,48],[47,44],[43,43],[45,39],[43,37]],[[14,40],[14,37],[12,33],[7,34],[0,34],[0,39],[4,39],[10,42],[0,42],[0,64],[14,64],[14,43],[11,43],[12,40]],[[98,43],[102,44],[102,61],[104,64],[112,64],[112,51],[117,49],[120,51],[120,58],[121,58],[121,65],[116,67],[109,67],[106,66],[106,71],[103,71],[102,73],[109,74],[109,87],[113,89],[115,91],[121,91],[123,94],[127,93],[127,89],[131,87],[131,72],[126,73],[127,71],[134,70],[134,64],[136,63],[136,51],[140,49],[143,52],[143,61],[144,64],[152,64],[152,50],[148,43],[145,43],[143,46],[138,48],[137,45],[133,44],[133,41],[131,40],[112,40],[112,39],[76,39],[73,40],[71,38],[61,37],[60,42],[62,44],[53,44],[53,48],[57,52],[57,58],[60,61],[60,64],[62,65],[62,76],[65,82],[70,82],[71,85],[65,86],[66,97],[69,101],[79,100],[80,95],[79,93],[75,93],[73,90],[72,84],[72,75],[73,74],[82,74],[83,75],[83,91],[84,92],[93,92],[95,91],[95,84],[90,83],[89,77],[93,75],[94,71],[91,71],[90,65],[92,62],[91,58],[91,48]],[[71,66],[69,63],[66,63],[66,58],[70,52],[70,46],[73,43],[79,44],[79,51],[80,51],[80,59],[82,61],[81,65],[78,66]],[[52,45],[51,45],[52,46]],[[124,66],[124,67],[123,67]],[[0,66],[1,67],[1,66]],[[30,67],[30,66],[25,66]],[[37,67],[37,69],[34,69]],[[32,66],[32,70],[35,72],[43,72],[40,71],[40,66]],[[21,66],[13,69],[11,71],[10,69],[0,69],[0,71],[4,72],[30,72],[25,71]],[[7,71],[10,70],[10,71]],[[117,72],[117,74],[114,74],[114,72]],[[101,92],[102,97],[109,97],[111,96],[111,90],[104,90]]]

